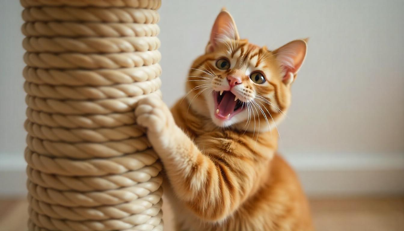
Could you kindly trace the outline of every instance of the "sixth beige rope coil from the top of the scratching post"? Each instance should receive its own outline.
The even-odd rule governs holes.
[[[159,64],[117,70],[46,70],[29,67],[23,70],[27,82],[67,86],[109,86],[143,82],[157,78],[160,73]]]

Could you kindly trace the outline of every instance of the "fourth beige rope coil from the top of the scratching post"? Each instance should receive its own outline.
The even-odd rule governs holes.
[[[134,52],[156,50],[160,47],[160,40],[157,37],[26,37],[23,40],[23,47],[29,52]]]

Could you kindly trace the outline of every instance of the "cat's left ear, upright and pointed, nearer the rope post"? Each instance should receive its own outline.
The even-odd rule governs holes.
[[[210,39],[206,46],[206,53],[215,50],[217,45],[223,40],[239,40],[236,23],[230,13],[222,8],[222,11],[217,15],[215,23],[213,23],[212,32],[210,32]]]

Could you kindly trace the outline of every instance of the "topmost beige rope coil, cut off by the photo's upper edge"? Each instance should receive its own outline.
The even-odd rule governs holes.
[[[29,6],[99,6],[147,8],[157,10],[160,8],[160,0],[21,0],[21,5]]]

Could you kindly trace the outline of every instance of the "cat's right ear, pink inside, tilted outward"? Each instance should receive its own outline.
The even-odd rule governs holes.
[[[307,53],[308,38],[295,40],[273,51],[276,60],[282,68],[282,82],[286,85],[292,83]]]

